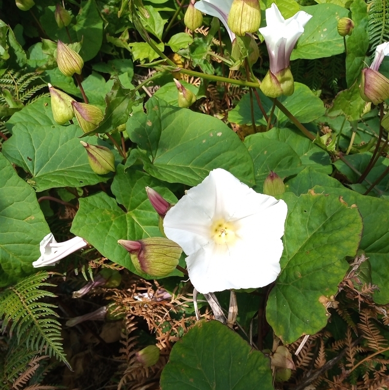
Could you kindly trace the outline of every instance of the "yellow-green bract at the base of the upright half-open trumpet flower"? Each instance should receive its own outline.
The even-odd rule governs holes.
[[[287,67],[277,74],[267,71],[261,86],[261,91],[269,97],[279,97],[282,94],[290,96],[295,90],[293,75]]]

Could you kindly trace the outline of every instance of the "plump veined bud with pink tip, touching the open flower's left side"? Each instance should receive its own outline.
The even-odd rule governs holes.
[[[139,241],[119,240],[118,243],[130,253],[137,272],[154,277],[168,276],[176,268],[182,253],[176,242],[163,237]]]

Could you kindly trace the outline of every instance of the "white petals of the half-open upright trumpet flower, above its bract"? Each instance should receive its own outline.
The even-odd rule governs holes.
[[[299,11],[285,20],[275,3],[265,10],[265,14],[266,27],[260,28],[259,32],[265,38],[270,72],[277,74],[289,66],[292,50],[312,15]]]

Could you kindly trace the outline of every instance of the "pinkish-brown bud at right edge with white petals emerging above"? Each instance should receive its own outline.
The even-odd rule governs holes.
[[[366,102],[382,103],[389,98],[389,80],[373,69],[362,69],[360,93]]]

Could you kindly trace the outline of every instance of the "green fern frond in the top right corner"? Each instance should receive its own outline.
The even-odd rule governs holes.
[[[389,40],[389,0],[372,0],[369,2],[369,38],[371,51]]]

